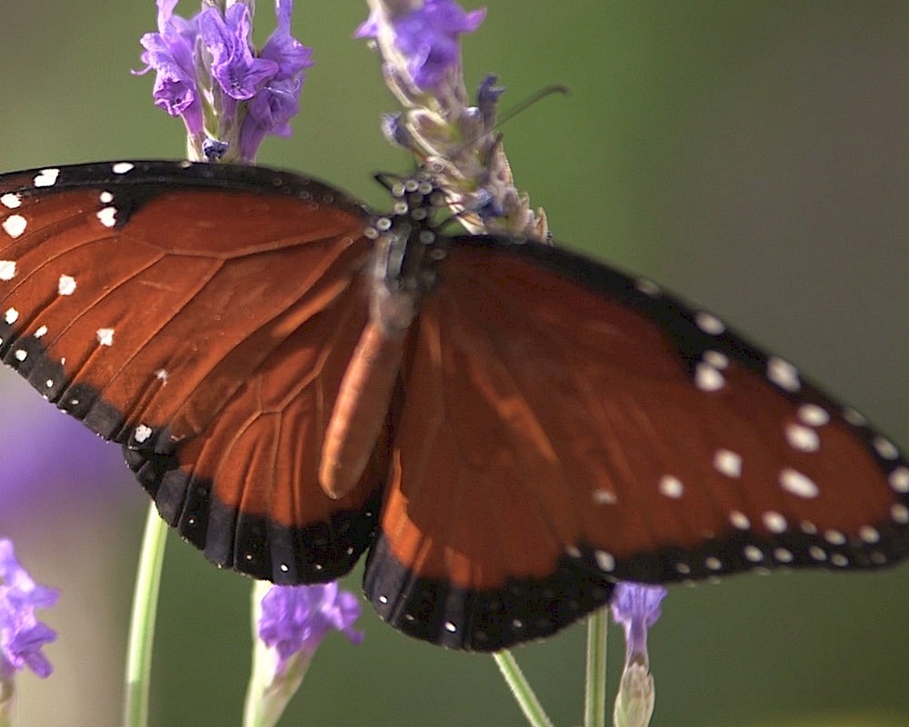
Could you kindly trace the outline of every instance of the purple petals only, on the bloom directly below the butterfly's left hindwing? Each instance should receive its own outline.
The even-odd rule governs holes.
[[[299,652],[312,655],[332,629],[362,642],[363,632],[354,628],[359,617],[359,600],[337,583],[273,586],[262,599],[259,637],[277,652],[275,671],[281,675],[288,660]]]

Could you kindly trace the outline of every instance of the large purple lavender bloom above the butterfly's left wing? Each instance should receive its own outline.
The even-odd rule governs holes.
[[[183,116],[197,159],[253,162],[266,134],[290,134],[312,52],[290,35],[293,0],[275,0],[277,26],[261,52],[251,3],[208,5],[186,19],[156,0],[158,32],[142,37],[144,74],[155,69],[155,105]],[[227,144],[220,156],[211,144]],[[218,145],[216,148],[223,149]]]

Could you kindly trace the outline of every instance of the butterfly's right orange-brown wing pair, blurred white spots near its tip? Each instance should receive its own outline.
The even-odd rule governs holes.
[[[366,591],[420,638],[494,650],[616,579],[907,552],[893,443],[714,316],[584,258],[455,240],[405,364]]]

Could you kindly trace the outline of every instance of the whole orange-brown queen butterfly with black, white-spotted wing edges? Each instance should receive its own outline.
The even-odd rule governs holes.
[[[909,466],[717,317],[560,247],[442,234],[262,167],[0,176],[0,355],[221,566],[347,573],[396,628],[493,651],[616,580],[874,568]]]

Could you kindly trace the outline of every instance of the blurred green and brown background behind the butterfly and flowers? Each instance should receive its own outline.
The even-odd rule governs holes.
[[[260,162],[381,205],[370,174],[410,162],[379,133],[395,104],[351,38],[365,4],[296,5],[317,65],[293,138],[267,142]],[[503,128],[556,239],[713,309],[909,446],[909,3],[487,6],[465,40],[468,85],[499,74],[503,108],[572,89]],[[183,153],[152,76],[129,75],[155,29],[151,0],[7,0],[0,23],[0,168]],[[260,2],[257,35],[271,23]],[[55,673],[20,678],[18,723],[114,725],[145,496],[117,448],[0,374],[0,462],[59,465],[15,503],[0,498],[0,535],[63,592],[45,612],[60,632],[46,650]],[[21,479],[0,470],[0,493]],[[165,569],[153,724],[238,723],[249,583],[177,539]],[[359,592],[359,577],[346,586]],[[909,725],[907,595],[906,566],[674,587],[651,633],[653,724]],[[361,626],[360,647],[325,642],[284,724],[524,723],[488,658],[409,640],[368,604]],[[612,633],[614,681],[624,645]],[[583,646],[574,627],[517,650],[559,725],[581,720]]]

